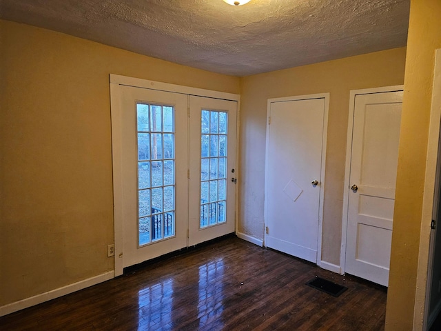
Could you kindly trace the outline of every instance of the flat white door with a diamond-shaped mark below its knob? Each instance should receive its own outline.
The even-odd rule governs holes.
[[[314,263],[326,104],[325,97],[270,102],[267,126],[265,245]]]

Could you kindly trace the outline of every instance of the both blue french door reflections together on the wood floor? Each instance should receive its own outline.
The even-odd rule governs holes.
[[[194,330],[212,323],[222,328],[225,268],[223,259],[216,259],[194,268],[185,279],[169,278],[139,290],[138,330],[176,330],[182,319],[194,321]],[[186,316],[181,316],[184,306]]]

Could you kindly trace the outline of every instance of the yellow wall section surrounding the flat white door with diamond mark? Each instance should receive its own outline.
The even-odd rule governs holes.
[[[263,239],[267,99],[330,92],[322,259],[340,265],[349,90],[401,85],[404,58],[397,48],[242,79],[239,232]]]

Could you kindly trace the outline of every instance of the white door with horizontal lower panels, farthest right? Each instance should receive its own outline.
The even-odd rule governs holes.
[[[402,92],[355,97],[345,272],[388,285]]]

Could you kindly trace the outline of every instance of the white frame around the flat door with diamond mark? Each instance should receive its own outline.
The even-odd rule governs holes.
[[[266,146],[265,150],[269,148],[269,117],[271,114],[271,103],[280,102],[280,101],[298,101],[298,100],[308,100],[308,99],[325,99],[325,114],[323,116],[323,137],[322,137],[322,165],[320,170],[320,195],[319,195],[319,205],[318,205],[318,237],[317,237],[317,265],[322,265],[322,230],[323,230],[323,201],[325,197],[325,170],[326,170],[326,148],[327,148],[327,131],[328,131],[328,113],[329,113],[329,93],[318,93],[318,94],[307,94],[307,95],[298,95],[294,97],[283,97],[283,98],[273,98],[268,99],[267,101],[267,137],[266,137]],[[268,165],[268,153],[265,153],[265,169]],[[265,197],[267,197],[267,179],[268,175],[265,171]],[[264,203],[264,219],[265,219],[265,227],[264,227],[264,240],[263,246],[267,247],[266,241],[266,232],[265,228],[267,227],[267,199],[265,199]]]

